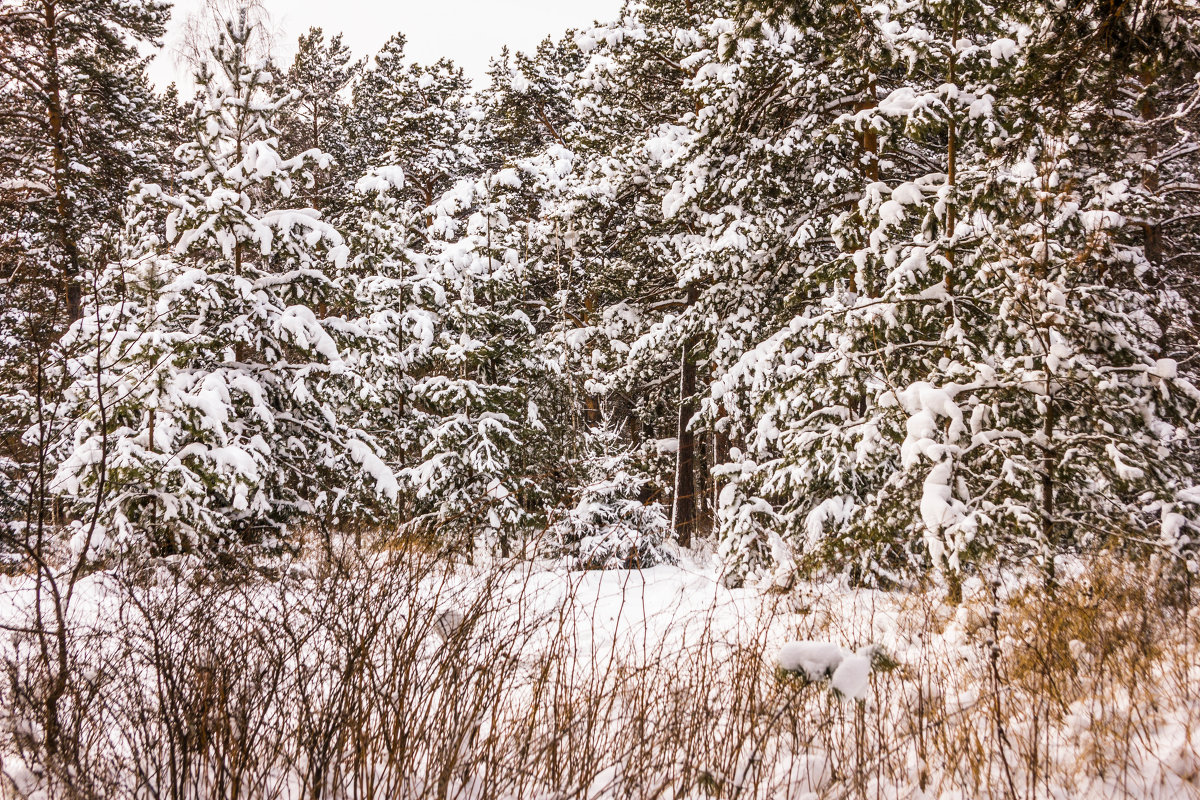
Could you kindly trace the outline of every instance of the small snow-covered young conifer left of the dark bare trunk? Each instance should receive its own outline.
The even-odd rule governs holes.
[[[551,545],[583,570],[674,564],[671,521],[661,503],[641,499],[644,480],[620,471],[583,487],[575,507],[551,524]]]

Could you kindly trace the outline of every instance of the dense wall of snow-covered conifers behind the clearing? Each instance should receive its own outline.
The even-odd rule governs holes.
[[[0,253],[90,287],[43,343],[88,547],[370,522],[588,567],[708,539],[733,581],[1196,569],[1194,0],[631,1],[476,90],[402,34],[364,66],[313,29],[282,71],[253,24],[169,170],[131,145],[107,237],[4,185],[48,188]],[[124,58],[121,102],[168,108]]]

